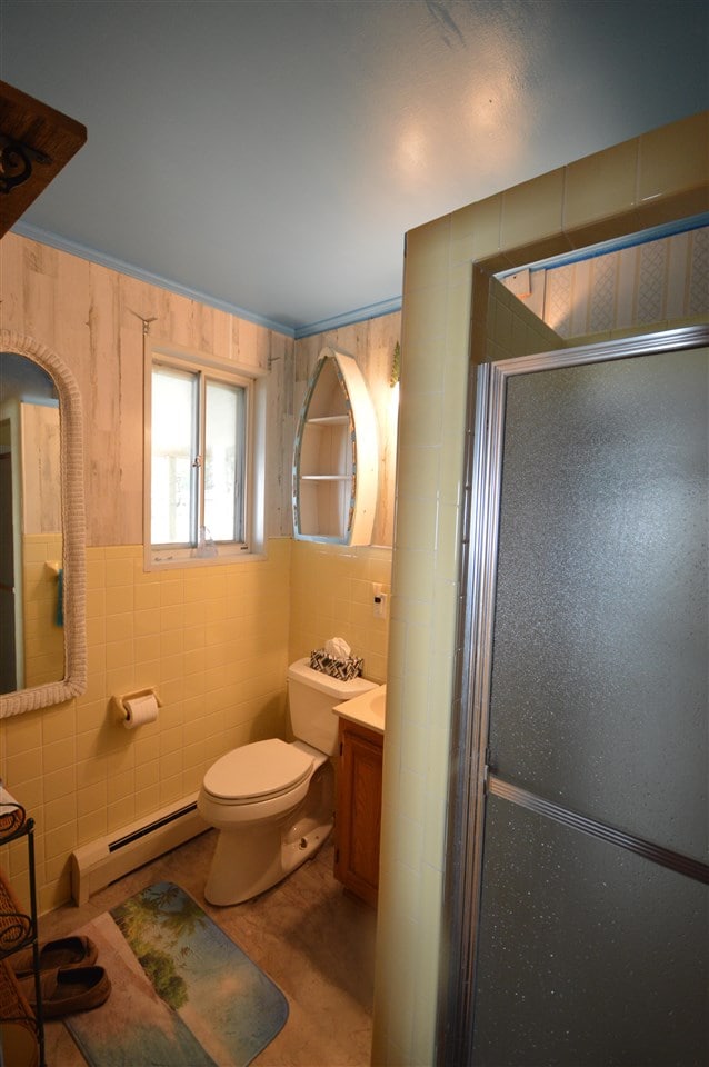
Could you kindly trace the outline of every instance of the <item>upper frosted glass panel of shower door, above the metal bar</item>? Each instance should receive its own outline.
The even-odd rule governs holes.
[[[707,859],[708,353],[508,381],[500,777]]]

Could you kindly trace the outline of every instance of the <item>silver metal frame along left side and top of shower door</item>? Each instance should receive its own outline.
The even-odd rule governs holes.
[[[489,682],[505,397],[516,375],[709,345],[709,326],[643,333],[471,367],[461,519],[458,658],[448,797],[437,1064],[459,1067],[472,1053],[477,931],[482,884]],[[477,373],[476,373],[477,371]],[[491,488],[492,487],[492,488]]]

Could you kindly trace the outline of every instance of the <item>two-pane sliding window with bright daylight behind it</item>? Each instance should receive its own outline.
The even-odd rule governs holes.
[[[223,361],[150,347],[146,362],[148,566],[252,556],[259,382]]]

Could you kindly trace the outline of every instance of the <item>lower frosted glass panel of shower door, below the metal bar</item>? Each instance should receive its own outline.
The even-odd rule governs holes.
[[[707,887],[491,797],[475,1067],[706,1067]]]

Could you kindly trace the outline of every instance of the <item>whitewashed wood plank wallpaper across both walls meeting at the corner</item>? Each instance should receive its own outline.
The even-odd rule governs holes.
[[[373,542],[392,544],[397,412],[389,375],[400,315],[300,341],[14,233],[0,241],[0,322],[52,348],[84,408],[87,545],[142,541],[143,322],[154,339],[268,372],[267,537],[292,531],[292,448],[324,346],[353,356],[379,422]]]

